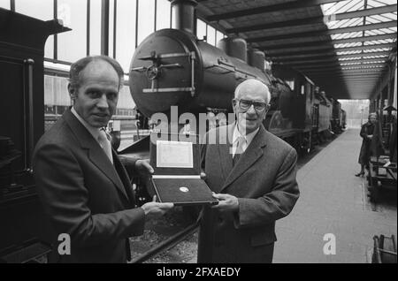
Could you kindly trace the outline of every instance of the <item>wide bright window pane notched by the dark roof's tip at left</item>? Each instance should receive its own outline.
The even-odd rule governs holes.
[[[58,59],[75,62],[86,57],[87,46],[87,2],[58,0],[58,19],[71,31],[58,34]]]

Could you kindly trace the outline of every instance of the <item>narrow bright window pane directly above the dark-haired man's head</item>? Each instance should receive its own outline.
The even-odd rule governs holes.
[[[90,55],[101,54],[101,1],[90,1]]]

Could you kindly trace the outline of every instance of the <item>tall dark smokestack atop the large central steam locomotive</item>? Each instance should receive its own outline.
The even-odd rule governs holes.
[[[173,0],[172,18],[175,29],[195,34],[195,0]]]

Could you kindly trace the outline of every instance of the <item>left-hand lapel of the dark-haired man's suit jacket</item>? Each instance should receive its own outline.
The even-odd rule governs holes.
[[[108,159],[108,156],[103,152],[98,142],[94,140],[91,133],[80,123],[80,121],[73,116],[71,110],[66,110],[63,117],[68,125],[71,126],[72,132],[75,134],[77,140],[80,142],[80,147],[88,150],[88,159],[96,165],[96,167],[103,172],[103,174],[111,179],[112,183],[119,189],[127,199],[127,194],[123,183],[121,182],[118,172],[113,167],[113,164]]]

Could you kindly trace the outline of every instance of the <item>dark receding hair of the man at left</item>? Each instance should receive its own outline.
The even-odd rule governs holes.
[[[108,56],[83,57],[80,58],[77,62],[73,63],[73,65],[71,65],[71,70],[69,71],[69,83],[71,84],[71,87],[79,88],[80,72],[82,72],[89,63],[100,60],[110,64],[113,67],[113,69],[118,73],[119,89],[120,89],[120,86],[123,84],[123,77],[125,73],[123,72],[123,68],[119,65],[119,63],[115,59]]]

